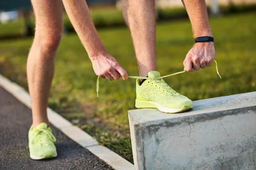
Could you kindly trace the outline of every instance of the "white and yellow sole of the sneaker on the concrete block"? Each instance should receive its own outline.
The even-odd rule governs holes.
[[[155,102],[151,101],[140,101],[135,100],[135,107],[136,108],[157,108],[159,111],[164,113],[180,113],[184,111],[188,111],[193,108],[192,105],[183,105],[182,108],[174,109],[174,108],[166,108],[164,106],[161,106]]]

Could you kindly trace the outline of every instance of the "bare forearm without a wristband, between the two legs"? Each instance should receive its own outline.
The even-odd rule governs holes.
[[[98,54],[105,53],[96,28],[90,16],[90,11],[85,0],[63,0],[67,15],[75,28],[90,59]]]

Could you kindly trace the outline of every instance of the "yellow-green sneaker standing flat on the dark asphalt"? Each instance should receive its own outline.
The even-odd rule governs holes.
[[[41,123],[37,127],[29,129],[29,152],[30,158],[51,159],[57,156],[55,137],[52,129],[46,123]]]

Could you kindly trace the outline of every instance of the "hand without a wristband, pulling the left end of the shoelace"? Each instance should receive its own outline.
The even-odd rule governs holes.
[[[102,53],[91,59],[95,74],[103,79],[128,79],[127,72],[118,64],[116,59],[108,53]]]

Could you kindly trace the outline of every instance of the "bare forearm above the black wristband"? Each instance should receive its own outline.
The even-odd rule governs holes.
[[[182,0],[183,5],[189,15],[194,38],[211,36],[207,8],[204,0]]]

